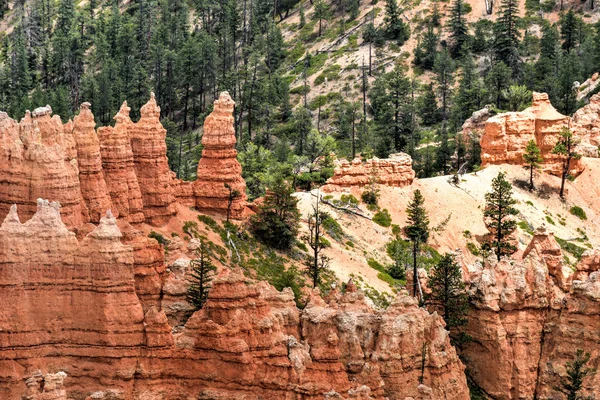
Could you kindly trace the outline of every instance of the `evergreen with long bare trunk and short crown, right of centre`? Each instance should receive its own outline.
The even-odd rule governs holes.
[[[404,227],[404,234],[413,244],[413,296],[417,297],[418,290],[419,296],[421,296],[417,271],[417,256],[421,245],[426,244],[429,239],[429,216],[425,209],[425,198],[419,189],[414,191],[413,199],[408,204],[406,214],[408,215],[408,225]]]

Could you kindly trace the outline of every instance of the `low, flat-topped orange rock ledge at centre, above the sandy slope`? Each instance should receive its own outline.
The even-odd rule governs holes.
[[[363,163],[355,158],[352,163],[336,160],[334,175],[322,187],[325,192],[338,191],[349,187],[364,187],[374,181],[381,185],[404,187],[412,184],[415,171],[408,154],[398,153],[390,158],[373,158]]]

